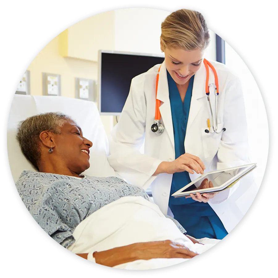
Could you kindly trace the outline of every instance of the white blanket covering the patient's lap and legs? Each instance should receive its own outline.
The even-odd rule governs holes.
[[[186,227],[185,227],[186,229]],[[158,206],[142,197],[120,198],[97,210],[74,230],[75,242],[68,249],[75,253],[104,251],[136,242],[172,240],[201,254],[219,240],[206,240],[205,245],[193,244],[175,223],[166,218]],[[116,268],[154,269],[181,263],[188,259],[150,259],[124,263]]]

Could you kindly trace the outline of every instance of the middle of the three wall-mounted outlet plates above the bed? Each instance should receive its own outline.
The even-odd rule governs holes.
[[[43,95],[61,95],[61,75],[43,72]]]

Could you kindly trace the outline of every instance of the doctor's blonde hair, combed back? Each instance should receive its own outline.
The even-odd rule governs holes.
[[[204,50],[209,44],[210,36],[203,15],[183,8],[173,11],[162,22],[160,40],[162,49]]]

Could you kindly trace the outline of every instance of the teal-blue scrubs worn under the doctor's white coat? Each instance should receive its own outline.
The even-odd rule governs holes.
[[[183,102],[177,85],[168,71],[167,80],[174,130],[175,159],[177,159],[182,154],[185,154],[184,140],[190,110],[194,75],[190,78]],[[190,151],[187,152],[190,153]],[[198,202],[192,198],[174,198],[171,196],[188,183],[191,183],[191,179],[187,171],[173,174],[169,207],[174,214],[174,218],[183,225],[185,230],[187,230],[187,234],[195,238],[224,238],[228,233],[221,220],[208,203]]]

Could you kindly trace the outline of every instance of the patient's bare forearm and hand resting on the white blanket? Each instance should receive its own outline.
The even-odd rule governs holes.
[[[76,254],[87,259],[88,254]],[[185,258],[191,259],[198,254],[190,251],[182,244],[172,242],[171,240],[139,242],[113,249],[95,252],[96,263],[113,267],[118,264],[133,262],[143,259],[154,258]]]

